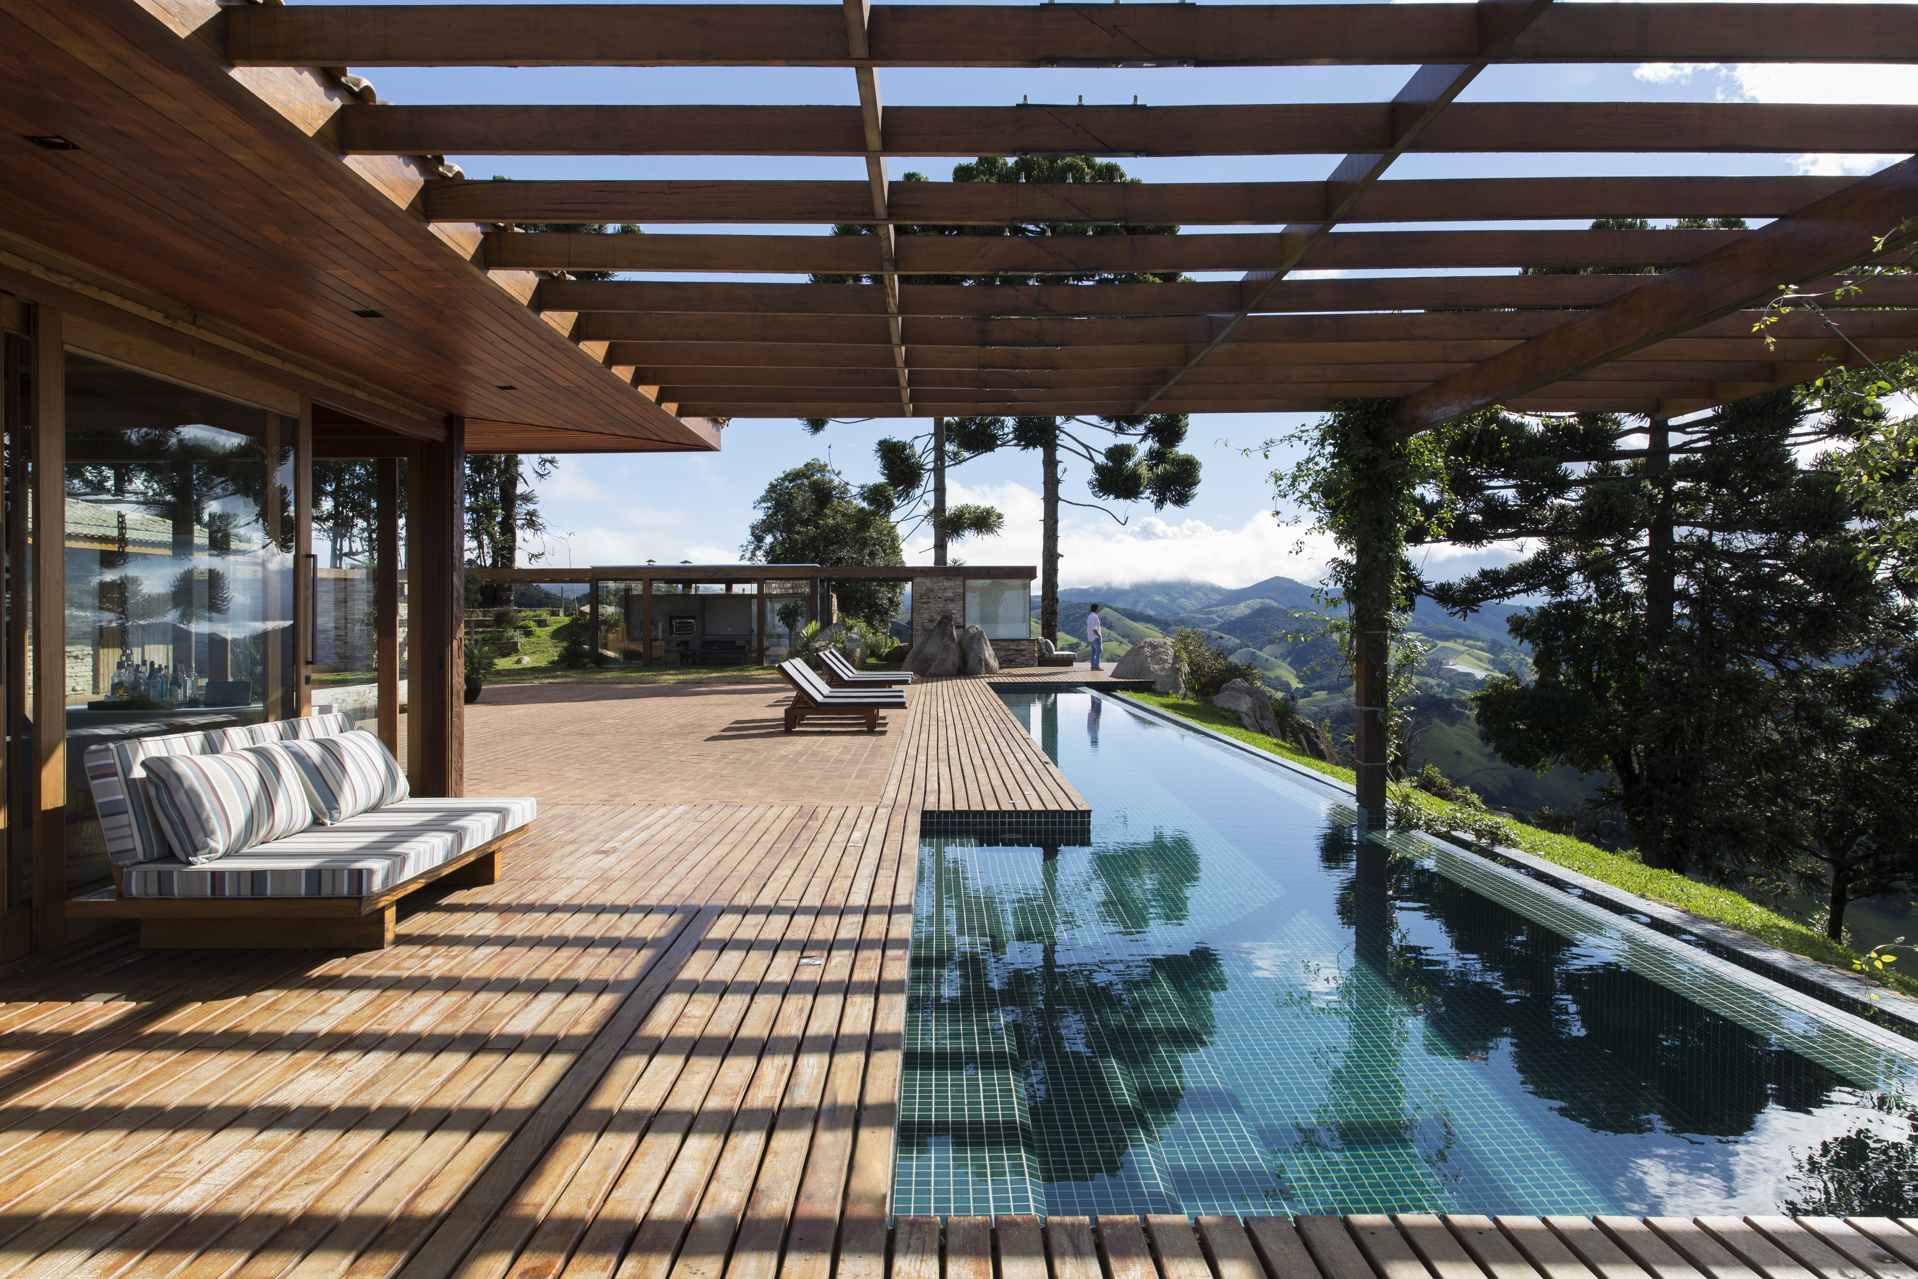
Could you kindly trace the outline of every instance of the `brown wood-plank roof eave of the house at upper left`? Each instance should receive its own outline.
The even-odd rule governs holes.
[[[717,447],[712,424],[648,403],[460,261],[449,228],[418,215],[418,163],[343,159],[326,79],[222,63],[203,31],[217,13],[136,0],[0,12],[0,119],[81,148],[8,150],[0,186],[35,198],[15,228],[449,416]],[[353,309],[380,311],[378,330]]]

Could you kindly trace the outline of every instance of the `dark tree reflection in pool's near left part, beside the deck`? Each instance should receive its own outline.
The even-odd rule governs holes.
[[[1155,922],[1183,922],[1199,853],[1185,836],[1091,853],[1091,882],[1066,892],[1097,903],[1095,932],[1134,938],[1114,949],[1078,943],[1059,857],[1043,857],[1038,886],[1007,888],[976,882],[967,853],[947,844],[921,853],[905,1068],[909,1089],[915,1070],[961,1074],[976,1101],[907,1108],[900,1152],[947,1137],[953,1164],[980,1179],[1009,1168],[1047,1183],[1118,1177],[1128,1152],[1178,1114],[1181,1057],[1216,1034],[1218,953],[1137,947]],[[997,1099],[976,1085],[995,1072],[1007,1093]]]

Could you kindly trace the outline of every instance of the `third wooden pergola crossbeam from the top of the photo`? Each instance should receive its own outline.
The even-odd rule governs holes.
[[[247,13],[255,10],[246,10]],[[1410,178],[1377,182],[1345,222],[1780,217],[1855,178]],[[433,222],[875,222],[867,182],[433,180]],[[909,182],[890,222],[1281,226],[1325,217],[1323,182]]]

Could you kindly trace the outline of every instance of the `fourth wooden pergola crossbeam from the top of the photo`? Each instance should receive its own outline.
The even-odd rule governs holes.
[[[880,161],[875,161],[880,163]],[[882,228],[888,230],[890,228]],[[1458,267],[1678,267],[1736,230],[1354,230],[1325,236],[1300,270]],[[1283,234],[1208,236],[595,236],[485,238],[489,270],[1128,274],[1247,270],[1287,253]]]

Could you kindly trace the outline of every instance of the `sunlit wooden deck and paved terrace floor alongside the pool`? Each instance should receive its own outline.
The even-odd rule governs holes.
[[[539,826],[499,884],[409,899],[391,949],[12,970],[0,1279],[1918,1279],[1889,1221],[888,1227],[921,815],[1084,802],[984,681],[817,746],[735,731],[756,696],[470,708],[474,775]],[[621,802],[596,734],[698,742],[754,802],[658,802],[633,756]],[[842,736],[867,754],[807,767]],[[840,771],[877,802],[807,794]]]

